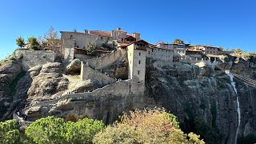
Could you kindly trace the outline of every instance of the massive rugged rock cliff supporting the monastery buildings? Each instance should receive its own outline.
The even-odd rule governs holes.
[[[235,58],[231,57],[220,64],[201,62],[194,65],[148,58],[146,63],[144,95],[122,94],[129,86],[121,81],[83,96],[84,91],[94,89],[94,83],[66,75],[65,66],[60,62],[34,66],[26,73],[22,72],[19,60],[0,66],[0,118],[11,118],[11,114],[19,110],[28,121],[54,115],[71,121],[89,117],[110,123],[123,111],[160,106],[178,116],[184,131],[201,134],[209,143],[234,143],[238,128],[237,94],[229,76],[219,67],[255,79],[255,59],[235,63]],[[73,64],[67,66],[70,69],[66,71],[72,71]],[[77,71],[78,62],[74,67]],[[102,71],[110,77],[125,79],[126,70],[127,61],[123,59]],[[238,138],[255,136],[256,89],[237,79],[234,82],[241,108]],[[16,92],[11,90],[12,85]],[[109,93],[112,89],[117,94]],[[68,95],[74,93],[79,93],[77,98]]]

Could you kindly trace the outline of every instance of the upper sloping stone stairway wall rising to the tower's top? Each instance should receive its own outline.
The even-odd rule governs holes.
[[[102,57],[92,58],[88,60],[87,63],[94,69],[102,69],[103,67],[110,66],[114,62],[117,62],[121,57],[126,57],[126,50],[119,49]]]

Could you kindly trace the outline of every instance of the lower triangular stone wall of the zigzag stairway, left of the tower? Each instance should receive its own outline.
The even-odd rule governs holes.
[[[110,78],[106,74],[102,74],[98,70],[92,69],[90,66],[85,66],[82,62],[82,80],[90,79],[94,82],[96,88],[106,86],[116,82],[114,78]]]

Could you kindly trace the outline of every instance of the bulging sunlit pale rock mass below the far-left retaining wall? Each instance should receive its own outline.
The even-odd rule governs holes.
[[[54,94],[61,95],[69,84],[62,75],[62,64],[59,62],[35,66],[29,72],[33,81],[28,90],[28,100],[32,102],[49,100]]]

